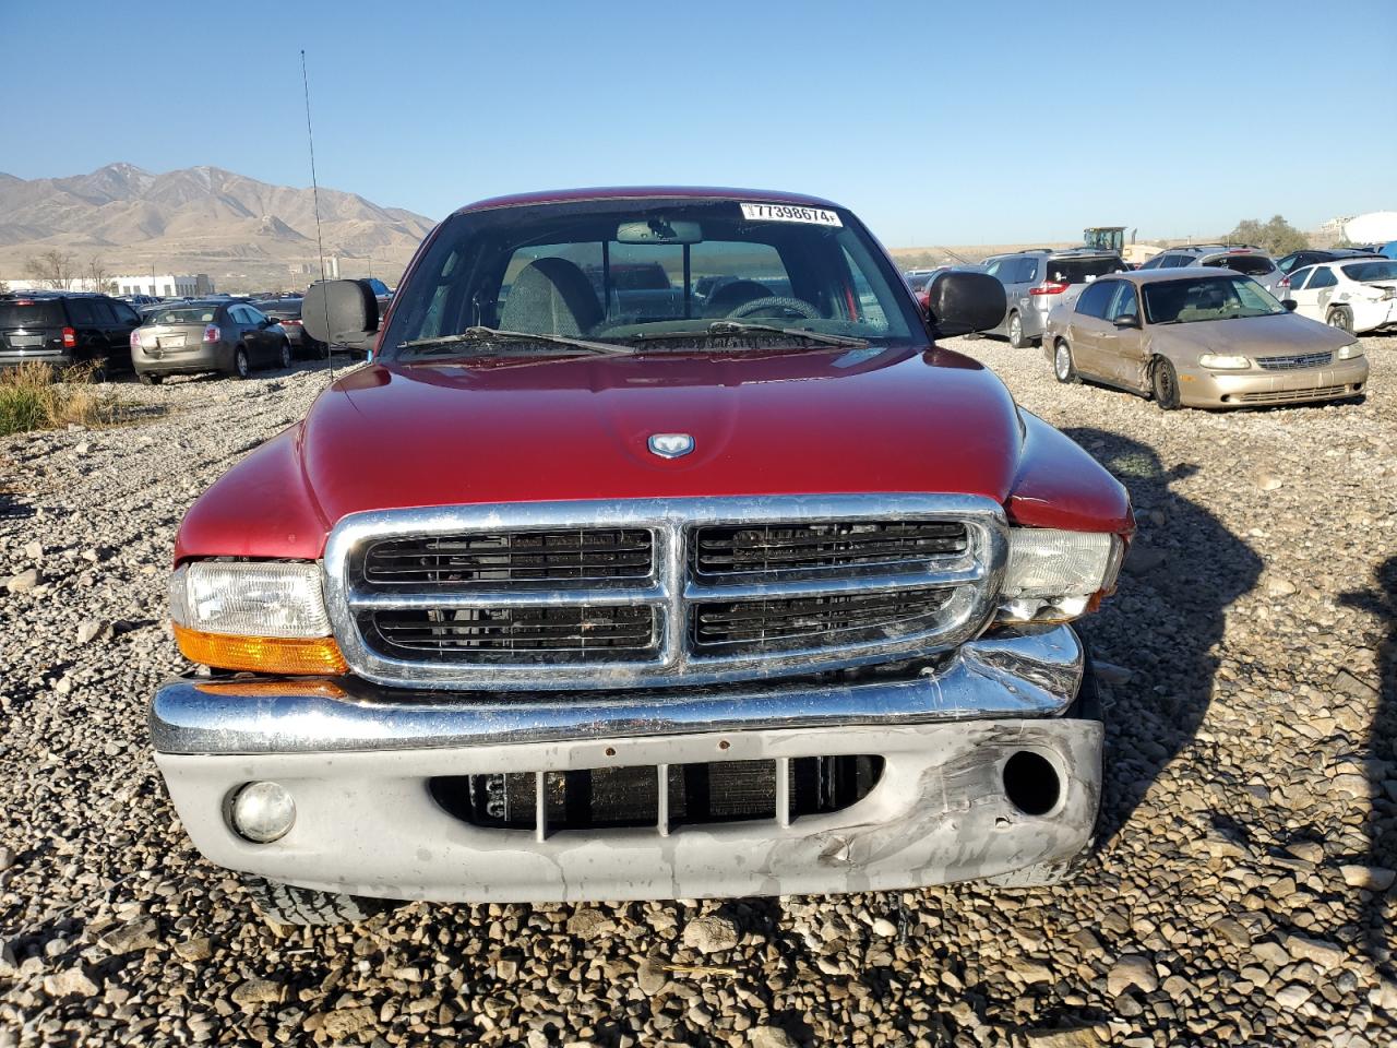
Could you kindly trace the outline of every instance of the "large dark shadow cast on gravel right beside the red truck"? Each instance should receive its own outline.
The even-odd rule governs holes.
[[[1097,827],[1098,845],[1105,847],[1193,742],[1214,692],[1229,686],[1217,678],[1225,612],[1256,585],[1261,559],[1173,489],[1197,472],[1196,465],[1165,468],[1154,449],[1119,433],[1063,432],[1129,489],[1140,525],[1118,594],[1084,627],[1098,661],[1129,671],[1123,681],[1109,667],[1101,674],[1111,700]],[[1204,783],[1189,785],[1199,789]],[[1217,819],[1214,829],[1228,833]]]

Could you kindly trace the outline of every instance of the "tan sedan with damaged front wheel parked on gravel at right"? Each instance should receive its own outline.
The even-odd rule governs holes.
[[[1362,345],[1291,309],[1227,270],[1118,272],[1052,310],[1044,349],[1058,381],[1118,386],[1165,411],[1359,395]]]

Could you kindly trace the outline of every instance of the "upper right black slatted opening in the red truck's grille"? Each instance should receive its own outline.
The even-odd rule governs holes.
[[[965,552],[958,521],[821,521],[697,528],[694,572],[795,574],[926,567]]]

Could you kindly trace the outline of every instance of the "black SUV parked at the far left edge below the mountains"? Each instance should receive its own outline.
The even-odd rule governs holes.
[[[141,317],[127,303],[77,291],[0,295],[0,367],[27,361],[66,367],[95,363],[130,370],[131,331]]]

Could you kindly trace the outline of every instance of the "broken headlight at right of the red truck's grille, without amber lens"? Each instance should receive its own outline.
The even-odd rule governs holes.
[[[1062,620],[1115,585],[1125,544],[1116,537],[1058,528],[1011,528],[1000,595],[1006,622]]]

